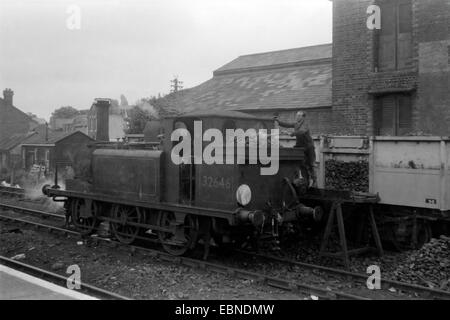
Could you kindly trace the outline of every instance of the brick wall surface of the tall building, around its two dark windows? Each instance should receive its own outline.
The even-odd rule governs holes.
[[[333,1],[333,133],[374,134],[377,96],[408,92],[413,131],[450,134],[450,1],[412,0],[408,69],[375,70],[377,32],[366,27],[375,0]]]

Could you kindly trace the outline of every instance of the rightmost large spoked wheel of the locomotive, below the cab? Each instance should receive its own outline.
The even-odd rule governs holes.
[[[176,225],[173,212],[160,212],[158,221],[159,226],[168,229],[172,229]],[[192,249],[197,242],[198,221],[195,217],[187,215],[184,224],[176,228],[178,230],[175,231],[175,234],[158,231],[158,238],[165,251],[174,256],[181,256]]]

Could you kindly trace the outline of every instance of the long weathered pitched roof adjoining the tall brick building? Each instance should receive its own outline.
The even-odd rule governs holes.
[[[329,107],[331,71],[331,45],[254,54],[219,68],[199,86],[164,98],[169,109],[180,113]]]

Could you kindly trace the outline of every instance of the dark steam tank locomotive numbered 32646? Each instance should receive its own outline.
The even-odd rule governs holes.
[[[199,122],[200,130],[196,129]],[[188,156],[185,151],[179,153],[183,162],[174,163],[172,149],[181,138],[171,139],[172,133],[181,128],[194,141],[208,129],[247,131],[273,126],[273,120],[239,112],[187,114],[151,122],[144,143],[93,144],[90,177],[67,180],[65,190],[55,183],[43,191],[55,201],[64,201],[74,225],[85,233],[107,222],[123,243],[157,237],[174,255],[192,249],[199,238],[205,239],[206,247],[211,238],[220,243],[254,234],[276,243],[279,228],[300,217],[321,217],[319,207],[304,206],[289,194],[285,199],[280,192],[283,186],[292,189],[294,180],[302,184],[300,177],[306,172],[303,149],[280,148],[276,159],[279,170],[274,175],[261,175],[268,164],[254,162],[248,156],[255,146],[259,154],[258,145],[251,143],[260,139],[259,135],[244,135],[242,144],[236,141],[233,160],[241,150],[244,162],[230,164],[198,162],[198,154]],[[202,148],[208,144],[201,142]],[[194,143],[191,145],[194,148]]]

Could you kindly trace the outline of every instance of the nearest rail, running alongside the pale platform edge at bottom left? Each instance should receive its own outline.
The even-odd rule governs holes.
[[[49,281],[59,286],[65,287],[67,283],[67,278],[64,276],[31,266],[29,264],[12,260],[7,257],[0,256],[0,264],[17,271],[22,271],[39,279]],[[86,283],[80,283],[80,289],[77,291],[95,298],[99,298],[101,300],[130,300],[129,298],[126,298],[124,296],[97,288]]]

